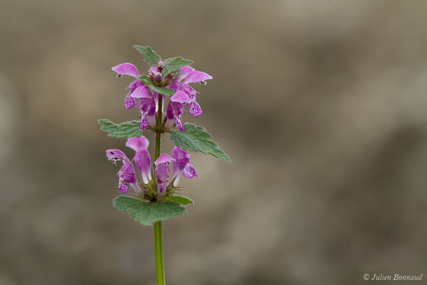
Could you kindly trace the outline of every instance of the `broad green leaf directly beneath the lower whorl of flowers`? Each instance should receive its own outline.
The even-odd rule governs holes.
[[[112,206],[120,211],[128,212],[135,218],[135,221],[147,227],[154,222],[186,214],[186,209],[176,202],[149,203],[129,196],[117,196],[112,200]]]

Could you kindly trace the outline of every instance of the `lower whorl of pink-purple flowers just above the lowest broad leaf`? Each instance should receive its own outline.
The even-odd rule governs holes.
[[[166,153],[162,153],[154,162],[154,176],[151,170],[151,157],[147,150],[149,142],[147,138],[129,138],[126,146],[135,150],[135,156],[132,161],[137,165],[139,175],[135,172],[135,167],[132,161],[127,158],[121,150],[106,150],[108,160],[113,162],[122,162],[123,166],[117,173],[119,177],[119,190],[126,193],[129,186],[137,193],[139,197],[155,201],[161,199],[165,195],[170,195],[177,190],[179,176],[186,178],[197,176],[196,170],[190,163],[191,154],[182,150],[181,147],[174,147],[172,157]],[[172,163],[172,177],[170,175]],[[169,178],[171,178],[169,180]]]

